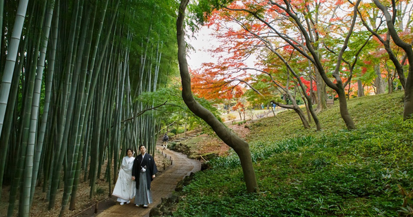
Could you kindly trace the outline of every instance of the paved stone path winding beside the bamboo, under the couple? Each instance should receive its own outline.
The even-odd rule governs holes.
[[[123,206],[116,203],[116,198],[112,197],[109,203],[113,203],[112,207],[105,209],[98,214],[80,214],[77,216],[97,216],[97,217],[125,217],[125,216],[139,216],[139,217],[149,217],[149,211],[151,208],[156,207],[162,201],[164,197],[169,197],[172,195],[172,192],[175,190],[176,185],[180,180],[185,176],[189,176],[191,172],[198,172],[201,169],[200,161],[195,161],[193,159],[187,158],[186,155],[178,152],[173,152],[169,149],[163,150],[163,147],[160,144],[156,145],[157,149],[167,155],[167,158],[171,158],[172,165],[165,170],[159,176],[156,176],[151,183],[152,199],[153,203],[149,205],[148,208],[135,207],[134,200],[131,200],[131,203]],[[158,166],[158,165],[157,165]],[[160,167],[159,165],[158,167]]]

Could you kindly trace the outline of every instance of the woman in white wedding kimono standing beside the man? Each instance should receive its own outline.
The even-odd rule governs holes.
[[[132,167],[134,166],[134,151],[132,149],[127,149],[127,156],[122,159],[122,165],[120,165],[120,170],[118,174],[118,180],[116,180],[116,185],[114,188],[113,196],[118,197],[118,202],[120,205],[125,203],[129,204],[131,199],[135,196],[135,181],[132,180]]]

